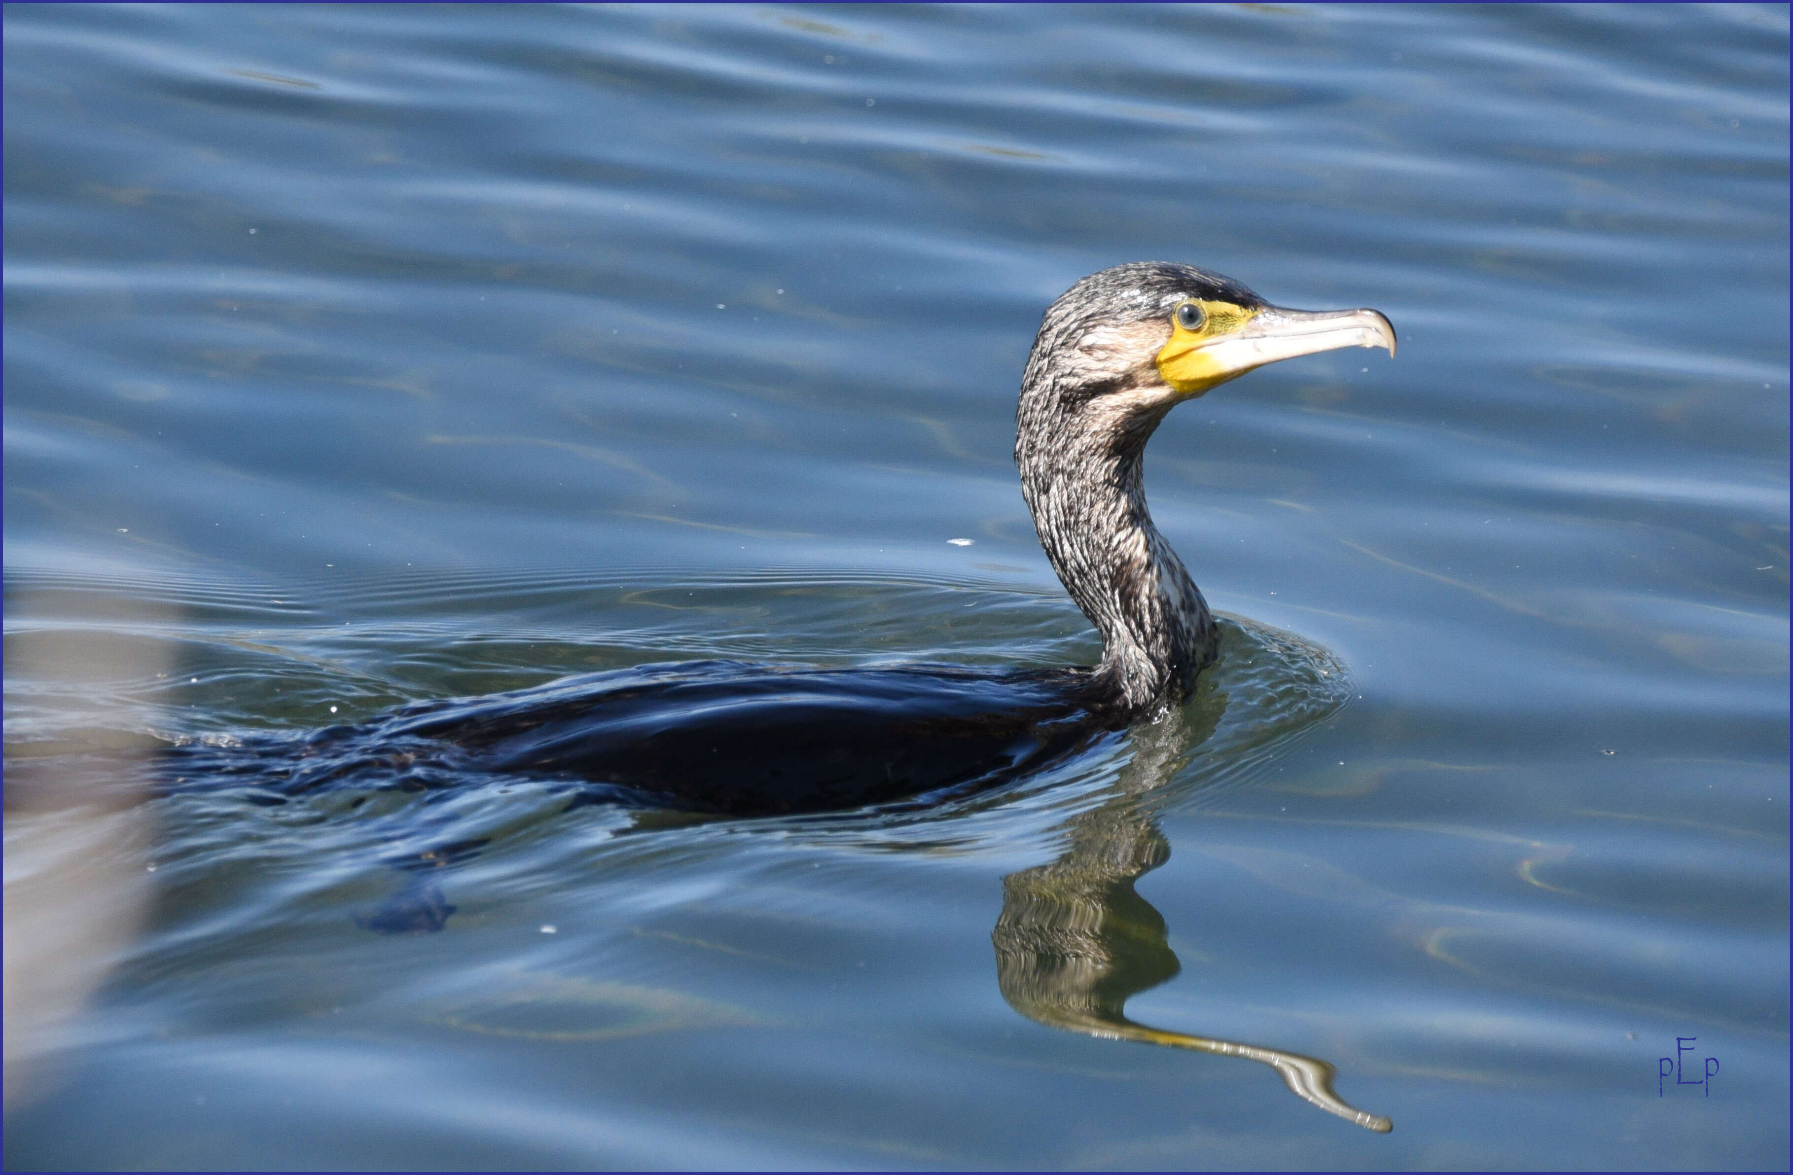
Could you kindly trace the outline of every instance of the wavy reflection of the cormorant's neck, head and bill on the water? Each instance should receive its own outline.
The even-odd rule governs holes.
[[[1169,782],[1207,732],[1189,710],[1173,710],[1130,732],[1131,762],[1115,795],[1074,816],[1058,859],[1002,879],[1002,915],[992,938],[1002,999],[1027,1019],[1106,1040],[1244,1057],[1273,1067],[1302,1100],[1366,1130],[1388,1118],[1352,1109],[1332,1091],[1334,1067],[1314,1057],[1139,1024],[1128,997],[1182,970],[1165,942],[1164,915],[1133,883],[1171,857],[1149,795]]]

